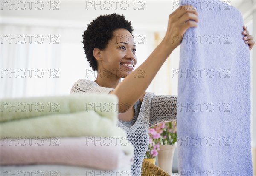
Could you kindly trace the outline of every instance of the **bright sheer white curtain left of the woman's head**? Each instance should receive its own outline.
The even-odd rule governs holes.
[[[2,97],[69,94],[86,75],[84,29],[1,24]]]

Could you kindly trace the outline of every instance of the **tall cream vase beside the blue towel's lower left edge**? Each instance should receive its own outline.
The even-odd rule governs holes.
[[[158,151],[158,165],[161,169],[172,175],[172,162],[174,150],[177,148],[177,143],[174,145],[160,145]]]

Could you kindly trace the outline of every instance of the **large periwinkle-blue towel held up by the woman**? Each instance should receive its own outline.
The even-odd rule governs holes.
[[[250,54],[242,15],[219,0],[180,5],[190,2],[200,21],[180,45],[180,174],[252,176]]]

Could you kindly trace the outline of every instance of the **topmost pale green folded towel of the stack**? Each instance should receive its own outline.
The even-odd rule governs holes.
[[[1,99],[0,122],[77,111],[96,111],[117,124],[118,98],[113,94],[72,94]]]

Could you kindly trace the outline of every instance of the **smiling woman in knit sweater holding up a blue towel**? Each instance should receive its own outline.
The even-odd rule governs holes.
[[[189,6],[189,7],[187,7]],[[188,21],[192,19],[195,21]],[[185,23],[186,22],[186,23]],[[190,27],[197,27],[198,12],[191,5],[181,6],[169,15],[162,42],[135,71],[136,46],[131,23],[118,14],[99,16],[87,25],[83,34],[84,51],[90,66],[97,71],[95,81],[80,79],[71,93],[115,94],[119,99],[118,126],[134,145],[132,174],[139,176],[148,148],[148,127],[176,119],[177,96],[158,96],[145,92],[167,57],[180,44]],[[244,28],[245,29],[245,28]],[[250,49],[253,36],[245,30]],[[172,41],[173,36],[181,36]],[[132,74],[131,74],[132,73]],[[120,82],[121,78],[125,78]],[[128,108],[127,108],[128,107]]]

